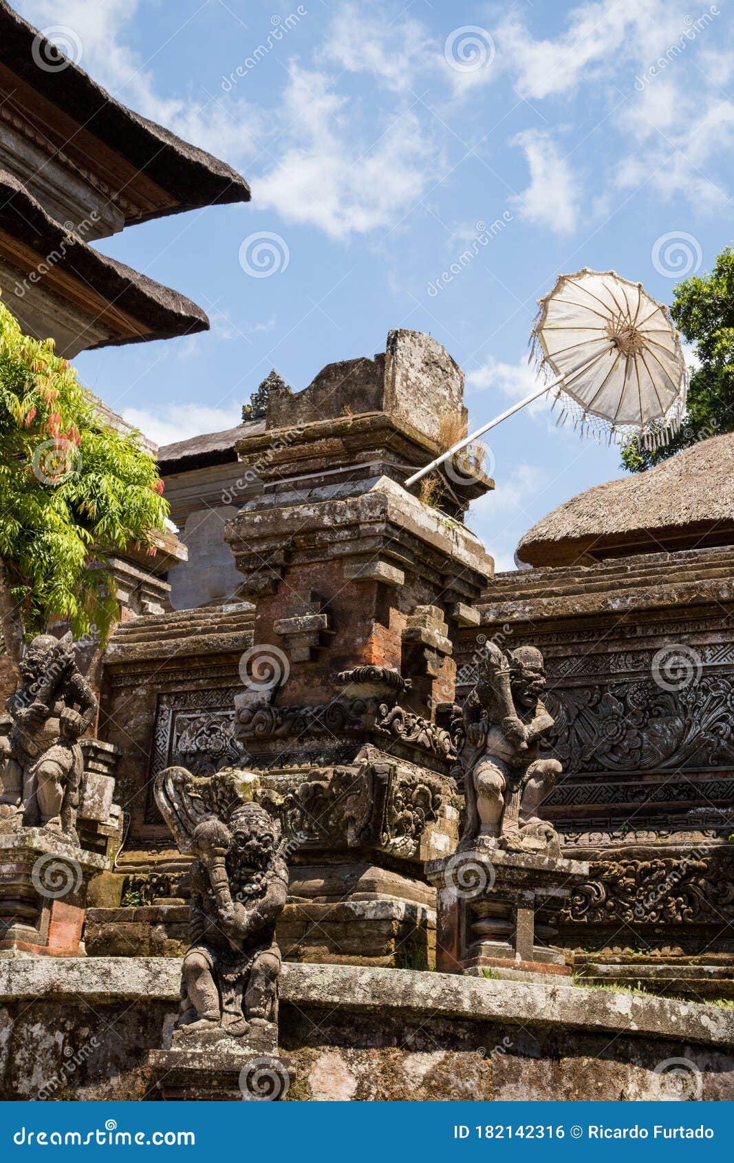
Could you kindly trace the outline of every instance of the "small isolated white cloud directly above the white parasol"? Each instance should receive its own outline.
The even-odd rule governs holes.
[[[553,136],[546,130],[526,129],[513,138],[525,150],[530,185],[513,199],[519,213],[530,222],[566,234],[578,217],[578,181]]]

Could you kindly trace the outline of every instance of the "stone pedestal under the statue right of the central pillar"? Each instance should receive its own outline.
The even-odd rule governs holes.
[[[589,865],[554,856],[475,848],[426,865],[436,886],[436,968],[505,979],[570,977],[550,946],[558,902]]]

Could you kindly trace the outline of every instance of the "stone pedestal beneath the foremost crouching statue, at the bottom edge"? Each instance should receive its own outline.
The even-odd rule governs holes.
[[[244,1037],[179,1029],[169,1050],[151,1050],[148,1065],[165,1101],[273,1103],[285,1098],[294,1077],[277,1040],[272,1022]]]

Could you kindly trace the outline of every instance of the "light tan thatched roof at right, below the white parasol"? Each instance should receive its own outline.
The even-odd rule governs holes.
[[[526,533],[518,556],[530,565],[572,565],[721,544],[734,544],[734,433],[578,493]]]

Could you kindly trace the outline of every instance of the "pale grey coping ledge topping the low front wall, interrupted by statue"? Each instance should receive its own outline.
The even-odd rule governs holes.
[[[90,1004],[151,998],[178,1003],[180,962],[173,957],[87,957],[0,961],[0,1001],[77,998]],[[586,1034],[674,1039],[727,1049],[734,1011],[669,998],[569,985],[494,982],[409,969],[286,963],[282,1000],[351,1013],[407,1013],[516,1023]]]

